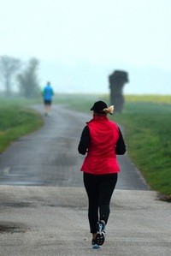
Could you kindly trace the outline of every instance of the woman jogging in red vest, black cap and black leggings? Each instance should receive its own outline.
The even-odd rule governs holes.
[[[99,248],[105,240],[105,225],[109,219],[109,203],[120,171],[116,155],[126,152],[121,130],[108,119],[114,106],[97,101],[92,107],[93,118],[82,131],[78,150],[87,153],[83,171],[85,190],[89,200],[88,218],[92,234],[92,248]]]

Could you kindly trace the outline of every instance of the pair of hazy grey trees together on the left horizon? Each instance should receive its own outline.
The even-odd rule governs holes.
[[[19,58],[0,56],[0,92],[10,97],[13,94],[14,82],[16,82],[20,96],[38,97],[40,95],[38,67],[39,61],[35,57],[27,63],[22,63]]]

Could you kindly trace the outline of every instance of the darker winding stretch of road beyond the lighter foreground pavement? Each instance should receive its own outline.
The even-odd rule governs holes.
[[[42,111],[41,106],[36,107]],[[17,140],[0,155],[0,185],[83,187],[77,147],[90,115],[55,105],[44,127]],[[119,156],[121,174],[117,188],[148,189],[127,154]]]

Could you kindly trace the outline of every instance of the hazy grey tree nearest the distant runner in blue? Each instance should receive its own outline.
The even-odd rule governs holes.
[[[26,98],[35,98],[40,94],[37,74],[38,65],[38,59],[31,58],[28,63],[28,67],[17,76],[21,95]]]

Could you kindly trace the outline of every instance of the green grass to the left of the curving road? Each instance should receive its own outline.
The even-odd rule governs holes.
[[[3,99],[0,101],[0,152],[12,141],[29,134],[43,125],[43,118],[36,111],[26,107],[24,99]],[[31,104],[29,102],[29,104]]]

